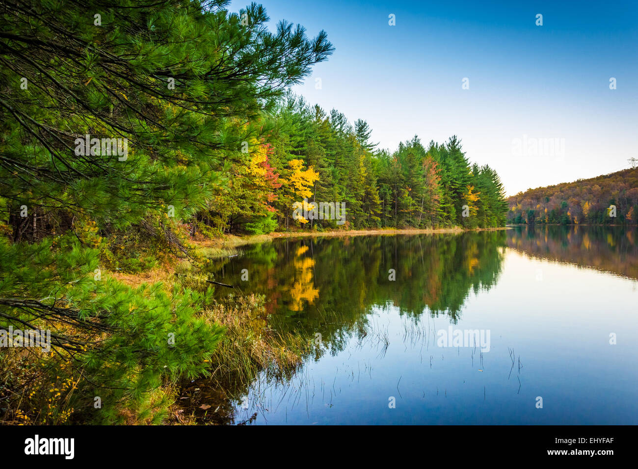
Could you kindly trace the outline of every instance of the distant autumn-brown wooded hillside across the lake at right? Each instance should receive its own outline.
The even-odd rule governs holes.
[[[508,204],[507,223],[635,225],[638,168],[519,192]]]

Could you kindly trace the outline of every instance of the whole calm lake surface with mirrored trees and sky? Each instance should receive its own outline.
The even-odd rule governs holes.
[[[638,424],[636,237],[517,227],[248,246],[215,278],[265,295],[272,328],[317,345],[290,380],[238,390],[231,422]]]

